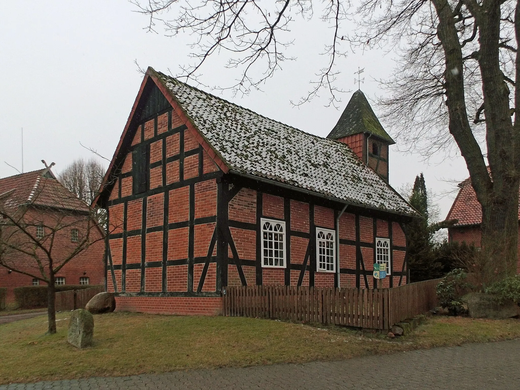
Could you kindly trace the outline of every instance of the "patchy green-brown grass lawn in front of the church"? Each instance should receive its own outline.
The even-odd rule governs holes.
[[[45,317],[0,324],[0,384],[182,369],[339,360],[434,346],[520,337],[520,320],[432,317],[413,334],[385,335],[254,318],[180,317],[135,313],[94,316],[95,345],[67,343],[70,313],[58,333]]]

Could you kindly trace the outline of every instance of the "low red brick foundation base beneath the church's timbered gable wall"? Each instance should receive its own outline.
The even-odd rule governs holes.
[[[182,316],[218,316],[222,314],[221,297],[118,296],[115,298],[115,302],[115,311]]]

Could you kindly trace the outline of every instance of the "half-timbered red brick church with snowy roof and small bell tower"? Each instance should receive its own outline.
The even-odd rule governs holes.
[[[360,91],[322,138],[149,68],[97,199],[118,308],[218,314],[227,285],[371,288],[376,261],[383,287],[406,283],[418,214],[387,184],[392,143]]]

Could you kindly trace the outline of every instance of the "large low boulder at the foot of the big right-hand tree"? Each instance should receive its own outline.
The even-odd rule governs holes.
[[[501,320],[517,316],[518,305],[513,301],[505,301],[499,304],[492,294],[469,293],[462,297],[467,305],[467,311],[473,318],[490,318]]]

